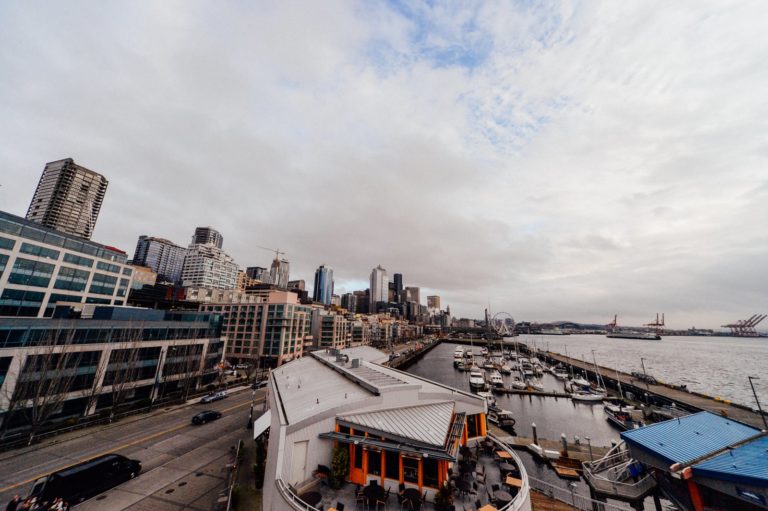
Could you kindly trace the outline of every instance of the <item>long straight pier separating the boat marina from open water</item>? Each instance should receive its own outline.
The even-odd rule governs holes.
[[[565,365],[568,365],[570,362],[570,365],[573,366],[575,371],[586,372],[590,376],[590,379],[596,379],[595,367],[591,363],[574,360],[573,358],[566,359],[565,356],[552,352],[545,352],[545,356],[552,361],[560,362]],[[722,415],[723,417],[730,417],[756,428],[762,429],[764,427],[760,415],[743,405],[734,404],[728,400],[717,397],[688,392],[663,383],[647,384],[635,379],[630,374],[622,372],[618,372],[617,374],[615,369],[603,366],[598,367],[606,385],[617,389],[617,381],[621,382],[623,392],[631,392],[638,400],[642,401],[645,397],[645,393],[648,393],[652,399],[660,398],[663,401],[675,403],[676,406],[686,408],[692,412],[706,410],[717,415]]]

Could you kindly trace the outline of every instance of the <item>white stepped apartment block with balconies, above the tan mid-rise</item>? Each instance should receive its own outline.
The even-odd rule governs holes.
[[[181,281],[184,287],[234,289],[239,271],[235,260],[216,245],[190,245]]]

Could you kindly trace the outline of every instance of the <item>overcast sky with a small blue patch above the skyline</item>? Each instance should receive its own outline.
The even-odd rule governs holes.
[[[768,313],[766,2],[429,4],[3,2],[0,209],[72,157],[130,256],[211,225],[457,316]]]

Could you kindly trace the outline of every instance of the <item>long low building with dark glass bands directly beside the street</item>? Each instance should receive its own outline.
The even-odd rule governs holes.
[[[218,375],[214,314],[64,304],[54,318],[0,322],[0,422],[11,431],[189,394]]]

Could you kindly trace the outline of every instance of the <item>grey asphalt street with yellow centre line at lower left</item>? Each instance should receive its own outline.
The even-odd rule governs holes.
[[[95,456],[119,453],[141,461],[139,476],[84,502],[78,509],[207,511],[225,483],[230,448],[248,436],[245,427],[253,399],[253,392],[246,389],[214,403],[158,410],[2,453],[0,506],[15,494],[26,496],[34,481],[44,475]],[[263,399],[264,391],[257,391],[256,416]],[[202,410],[219,411],[222,417],[201,426],[192,425],[192,416]],[[211,500],[206,504],[208,499],[203,496],[208,494]]]

